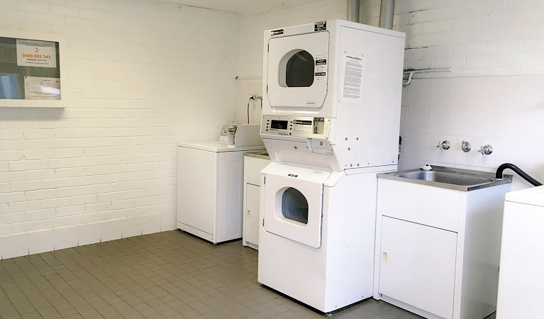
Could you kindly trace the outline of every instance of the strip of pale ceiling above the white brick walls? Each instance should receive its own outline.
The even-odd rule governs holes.
[[[164,0],[174,4],[240,14],[263,13],[311,4],[316,0]]]

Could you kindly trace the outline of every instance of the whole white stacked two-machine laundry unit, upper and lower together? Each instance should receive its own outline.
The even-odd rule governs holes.
[[[372,297],[404,37],[340,20],[265,31],[258,281],[323,313]]]

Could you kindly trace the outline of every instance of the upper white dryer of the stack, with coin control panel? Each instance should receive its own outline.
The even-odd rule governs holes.
[[[403,33],[328,20],[266,31],[264,43],[260,133],[273,162],[397,164]]]

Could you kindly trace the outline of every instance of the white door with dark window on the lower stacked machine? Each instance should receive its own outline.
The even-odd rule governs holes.
[[[265,231],[321,247],[323,183],[331,175],[321,169],[278,164],[266,172]]]

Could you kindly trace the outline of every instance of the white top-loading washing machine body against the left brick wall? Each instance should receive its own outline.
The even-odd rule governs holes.
[[[264,145],[180,142],[177,228],[216,244],[242,237],[243,154]]]

